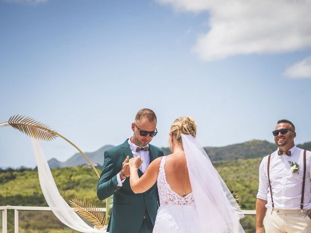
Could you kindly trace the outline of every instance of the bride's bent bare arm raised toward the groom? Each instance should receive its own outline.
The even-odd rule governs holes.
[[[140,167],[142,160],[140,157],[132,158],[129,161],[130,166],[130,184],[134,193],[146,192],[152,185],[155,184],[157,175],[159,174],[159,165],[162,157],[156,158],[147,167],[146,172],[139,178],[138,168]]]

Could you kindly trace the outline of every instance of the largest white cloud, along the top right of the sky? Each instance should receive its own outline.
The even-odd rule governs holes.
[[[178,11],[209,12],[193,47],[203,60],[311,48],[311,0],[157,0]]]

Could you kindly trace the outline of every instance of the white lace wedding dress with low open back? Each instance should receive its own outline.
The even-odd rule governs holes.
[[[163,156],[157,177],[160,207],[153,233],[199,233],[193,193],[181,197],[171,189],[165,176],[165,159]]]

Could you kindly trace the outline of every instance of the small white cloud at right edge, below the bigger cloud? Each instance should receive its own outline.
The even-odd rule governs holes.
[[[311,78],[311,56],[288,67],[283,73],[290,79]]]

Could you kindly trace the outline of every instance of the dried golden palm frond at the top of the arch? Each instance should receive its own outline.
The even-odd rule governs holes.
[[[49,126],[30,117],[14,115],[10,117],[8,123],[13,128],[35,139],[51,141],[58,136]]]

